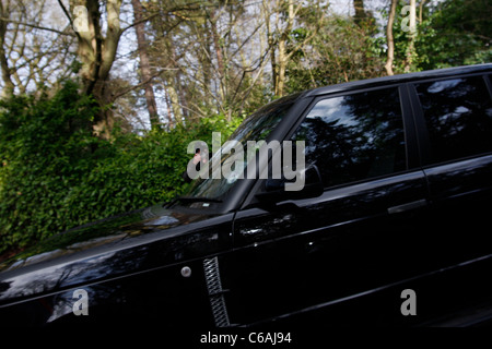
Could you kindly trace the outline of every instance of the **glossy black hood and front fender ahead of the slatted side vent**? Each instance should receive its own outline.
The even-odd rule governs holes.
[[[164,317],[177,325],[178,318],[189,323],[203,316],[211,321],[209,306],[203,308],[208,296],[202,260],[232,248],[232,216],[156,205],[82,229],[94,236],[87,241],[69,243],[62,234],[51,240],[65,240],[67,246],[49,251],[54,241],[48,240],[40,246],[48,252],[4,267],[0,312],[5,316],[0,322],[36,326],[67,316],[80,321],[72,304],[73,291],[81,288],[89,292],[95,314],[90,320],[95,322]],[[121,220],[127,222],[119,226]],[[77,232],[66,234],[78,240]],[[192,277],[181,276],[184,266],[191,268]]]

